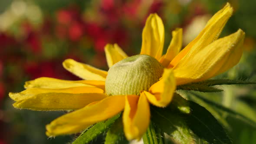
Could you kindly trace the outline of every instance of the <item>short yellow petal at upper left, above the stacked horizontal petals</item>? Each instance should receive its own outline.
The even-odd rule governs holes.
[[[105,81],[108,72],[97,69],[91,65],[76,62],[73,59],[66,59],[62,63],[63,67],[74,75],[86,80]]]

